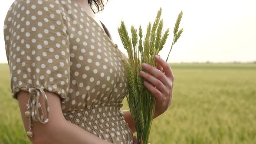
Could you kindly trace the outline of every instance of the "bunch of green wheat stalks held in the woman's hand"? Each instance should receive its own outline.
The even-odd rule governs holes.
[[[141,68],[141,63],[145,62],[156,68],[157,65],[154,55],[158,55],[163,49],[169,36],[169,29],[163,34],[164,22],[161,19],[161,13],[162,9],[160,8],[153,25],[148,23],[144,39],[141,26],[139,26],[138,30],[134,26],[131,26],[131,37],[123,21],[121,21],[121,26],[118,27],[120,39],[128,52],[128,61],[125,62],[125,72],[128,79],[129,92],[126,97],[131,116],[136,123],[135,128],[138,136],[138,144],[148,144],[155,109],[155,97],[144,86],[143,81],[145,79],[139,75],[141,70],[147,72]],[[171,49],[183,32],[183,29],[179,30],[182,15],[183,12],[181,11],[174,26],[174,38]],[[152,75],[149,72],[147,73]]]

